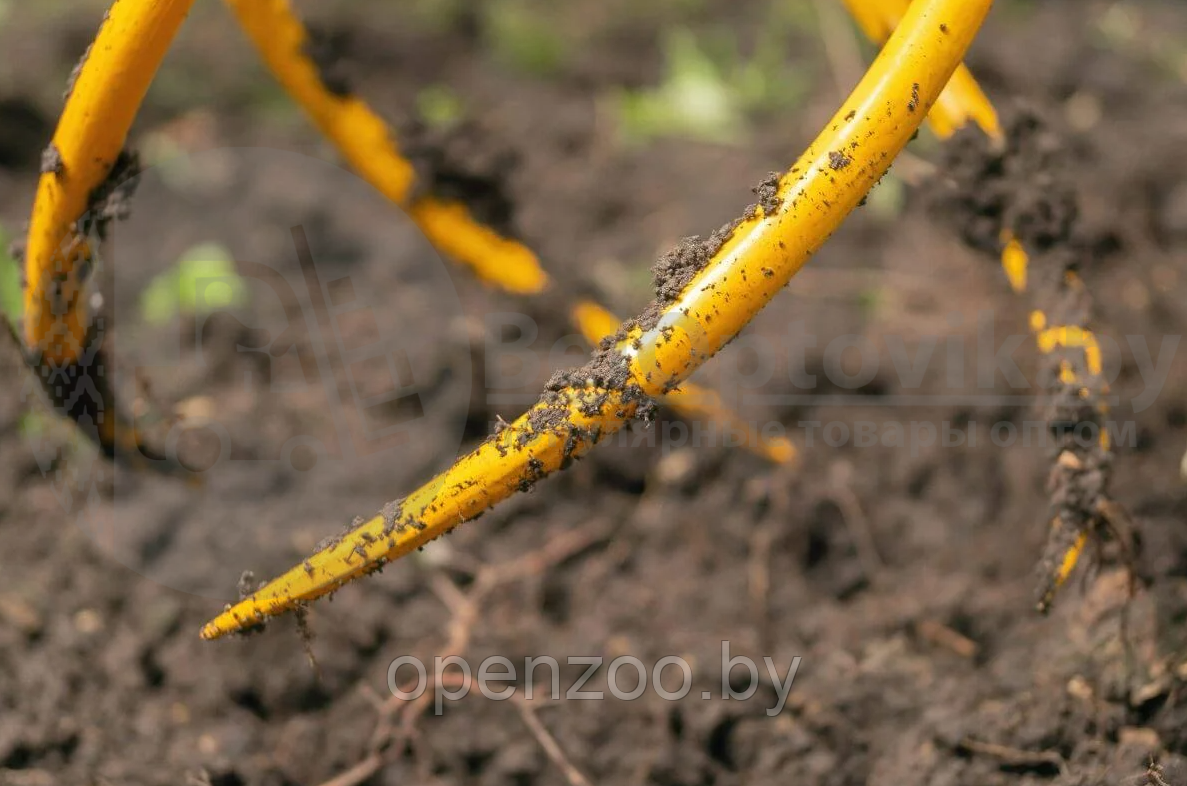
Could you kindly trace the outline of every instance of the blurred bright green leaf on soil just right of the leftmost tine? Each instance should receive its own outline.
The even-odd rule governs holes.
[[[178,315],[201,316],[247,302],[247,284],[235,272],[230,252],[218,243],[201,243],[145,287],[140,316],[148,324],[163,324]]]

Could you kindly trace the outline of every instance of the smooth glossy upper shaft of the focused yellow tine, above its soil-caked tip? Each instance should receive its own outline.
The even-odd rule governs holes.
[[[734,338],[865,197],[959,64],[991,0],[918,1],[824,133],[628,350],[660,395]],[[950,59],[959,52],[957,59]]]

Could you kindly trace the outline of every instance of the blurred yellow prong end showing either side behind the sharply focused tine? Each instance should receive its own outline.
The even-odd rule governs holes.
[[[595,347],[603,338],[612,336],[622,324],[622,319],[592,300],[582,300],[573,306],[572,317],[585,341]],[[754,424],[747,423],[725,406],[716,391],[694,382],[681,382],[680,387],[660,397],[659,402],[672,407],[687,420],[718,423],[729,427],[731,433],[743,435],[743,448],[776,464],[789,464],[798,456],[791,439],[761,433]]]

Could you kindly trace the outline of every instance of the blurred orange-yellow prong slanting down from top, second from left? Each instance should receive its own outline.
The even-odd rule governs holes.
[[[516,294],[548,285],[535,253],[480,222],[461,202],[414,195],[415,171],[387,123],[358,96],[326,87],[309,33],[287,0],[226,0],[277,81],[380,194],[408,213],[433,246],[478,278]]]

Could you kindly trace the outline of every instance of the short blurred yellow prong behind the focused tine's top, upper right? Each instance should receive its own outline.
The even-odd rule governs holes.
[[[910,0],[843,0],[849,14],[867,38],[884,44],[902,20]],[[932,107],[927,122],[935,135],[947,139],[969,121],[976,122],[994,140],[1002,139],[997,110],[977,84],[976,77],[963,63],[952,74],[939,101]]]

